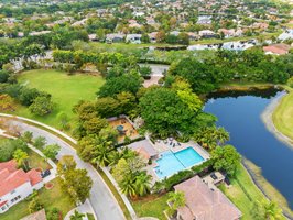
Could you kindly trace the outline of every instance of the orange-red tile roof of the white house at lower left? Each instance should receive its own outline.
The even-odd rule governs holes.
[[[28,173],[23,169],[17,169],[14,161],[0,163],[0,197],[28,182],[32,186],[42,182],[41,173],[35,169],[31,169]]]

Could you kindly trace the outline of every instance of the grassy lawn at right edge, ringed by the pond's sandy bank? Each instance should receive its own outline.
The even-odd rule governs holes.
[[[272,119],[275,128],[293,140],[293,89],[289,87],[286,89],[289,94],[282,98]]]

